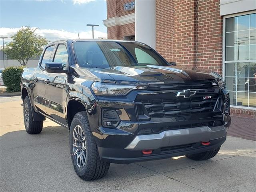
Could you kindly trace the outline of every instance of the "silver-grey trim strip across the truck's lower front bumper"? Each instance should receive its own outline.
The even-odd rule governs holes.
[[[195,127],[187,129],[168,130],[159,134],[138,135],[125,148],[131,150],[158,149],[167,146],[190,144],[209,141],[226,136],[225,126]]]

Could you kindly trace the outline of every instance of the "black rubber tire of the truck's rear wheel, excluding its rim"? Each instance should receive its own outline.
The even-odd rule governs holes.
[[[28,111],[29,111],[29,127],[28,127],[28,129],[26,129],[26,132],[28,134],[38,134],[43,129],[44,121],[34,121],[33,120],[32,111],[31,111],[31,103],[30,103],[28,96],[26,96],[24,99],[23,108],[25,108],[26,102],[28,103]],[[24,109],[23,109],[23,113],[24,113]],[[24,125],[26,127],[25,114],[24,114]]]

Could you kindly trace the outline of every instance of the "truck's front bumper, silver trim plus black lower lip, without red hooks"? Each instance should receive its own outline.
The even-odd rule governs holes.
[[[137,135],[124,148],[118,148],[118,144],[122,146],[122,138],[126,141],[129,135],[116,135],[116,140],[112,142],[116,143],[117,148],[98,146],[98,152],[103,161],[118,164],[196,154],[220,147],[226,140],[227,130],[228,126],[203,126]],[[210,145],[204,146],[202,141],[210,141]],[[142,150],[153,152],[145,155]]]

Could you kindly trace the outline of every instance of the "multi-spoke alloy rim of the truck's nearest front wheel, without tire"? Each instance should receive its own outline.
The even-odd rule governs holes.
[[[76,125],[73,131],[73,154],[77,166],[83,168],[86,162],[86,142],[84,131],[80,125]]]

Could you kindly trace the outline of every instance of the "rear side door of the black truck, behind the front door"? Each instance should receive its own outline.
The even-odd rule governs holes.
[[[42,57],[40,58],[40,63],[36,69],[36,73],[33,77],[33,99],[34,105],[37,110],[46,114],[45,102],[46,102],[46,92],[45,92],[45,75],[46,71],[44,69],[45,63],[51,61],[52,53],[54,50],[54,44],[45,48]]]

